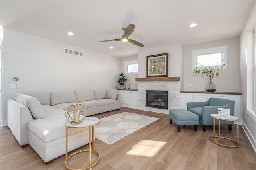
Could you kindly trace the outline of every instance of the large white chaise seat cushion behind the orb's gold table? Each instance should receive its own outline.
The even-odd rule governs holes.
[[[36,135],[44,143],[58,140],[66,136],[65,115],[46,117],[28,123],[28,130]],[[68,128],[68,135],[75,134],[84,128]]]

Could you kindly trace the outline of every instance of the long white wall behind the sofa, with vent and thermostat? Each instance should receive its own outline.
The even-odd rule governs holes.
[[[114,89],[117,85],[119,58],[5,28],[3,33],[2,121],[7,119],[7,99],[18,92]],[[83,52],[84,57],[66,54],[64,48]],[[20,89],[9,89],[10,83],[19,83]]]

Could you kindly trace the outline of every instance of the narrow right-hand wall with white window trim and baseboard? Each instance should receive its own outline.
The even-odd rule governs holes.
[[[256,152],[256,116],[247,111],[248,106],[248,72],[247,69],[252,63],[249,61],[248,57],[251,54],[249,32],[256,26],[256,2],[254,1],[250,14],[248,15],[246,25],[244,26],[242,33],[240,34],[240,92],[243,93],[243,103],[242,103],[242,124],[246,135],[248,136],[254,150]],[[248,32],[249,31],[249,32]],[[249,99],[250,101],[250,99]]]

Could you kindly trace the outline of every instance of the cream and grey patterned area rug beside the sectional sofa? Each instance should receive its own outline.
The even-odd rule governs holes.
[[[94,135],[97,139],[107,144],[113,144],[158,119],[159,118],[122,112],[101,118],[100,123],[94,127]]]

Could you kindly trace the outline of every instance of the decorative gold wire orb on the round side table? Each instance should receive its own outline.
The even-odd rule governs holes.
[[[71,124],[81,123],[86,118],[86,108],[82,104],[70,105],[66,109],[65,117]]]

